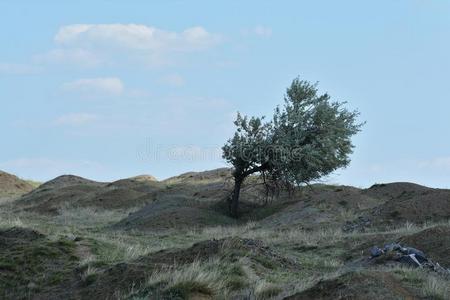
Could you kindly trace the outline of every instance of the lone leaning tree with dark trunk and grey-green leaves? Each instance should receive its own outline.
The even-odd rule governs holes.
[[[350,163],[351,137],[360,131],[358,111],[319,94],[317,84],[296,78],[287,89],[283,107],[271,121],[238,113],[236,133],[222,147],[223,158],[234,166],[230,213],[238,217],[244,180],[260,173],[274,182],[298,186]]]

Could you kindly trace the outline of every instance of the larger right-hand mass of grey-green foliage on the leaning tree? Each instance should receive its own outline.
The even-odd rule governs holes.
[[[295,79],[287,89],[284,109],[273,118],[274,143],[279,156],[272,159],[284,180],[304,183],[346,167],[352,153],[351,137],[361,124],[358,112],[345,103],[319,95],[316,84]]]

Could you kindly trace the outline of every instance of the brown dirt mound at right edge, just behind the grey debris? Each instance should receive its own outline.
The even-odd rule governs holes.
[[[450,227],[437,226],[405,236],[400,243],[420,249],[445,268],[450,268]]]

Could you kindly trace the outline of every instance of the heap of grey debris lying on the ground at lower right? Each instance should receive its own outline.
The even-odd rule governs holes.
[[[442,267],[438,262],[433,262],[423,251],[399,243],[386,244],[383,248],[374,246],[370,249],[370,256],[371,260],[376,262],[398,262],[450,276],[450,269]]]

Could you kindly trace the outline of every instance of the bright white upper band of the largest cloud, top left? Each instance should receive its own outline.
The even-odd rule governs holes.
[[[219,37],[203,27],[174,32],[139,24],[74,24],[61,27],[54,40],[70,47],[191,51],[208,48],[216,44]]]

